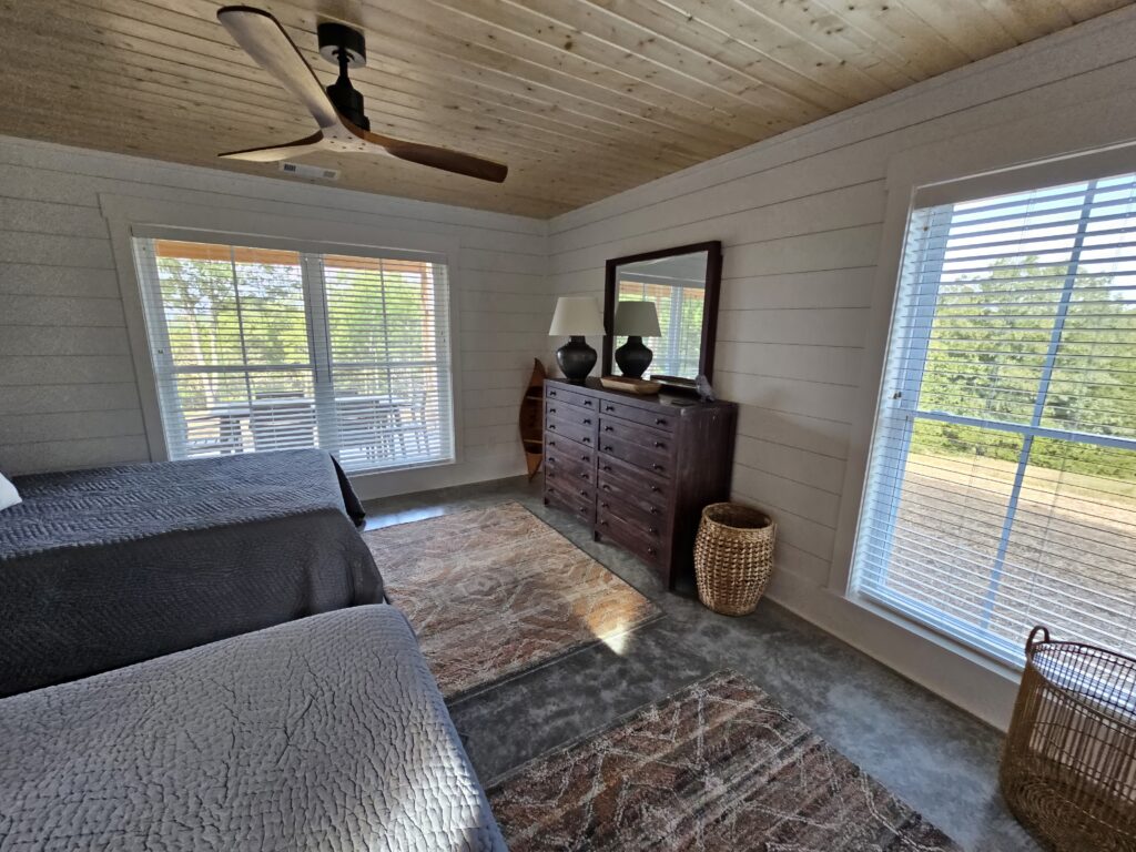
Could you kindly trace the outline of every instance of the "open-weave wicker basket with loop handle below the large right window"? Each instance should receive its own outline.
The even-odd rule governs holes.
[[[1052,852],[1136,850],[1136,660],[1035,627],[1002,795]]]

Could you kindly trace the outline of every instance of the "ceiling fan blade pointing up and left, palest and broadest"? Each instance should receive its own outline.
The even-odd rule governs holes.
[[[303,103],[320,127],[340,123],[324,86],[276,18],[251,6],[223,6],[217,19],[257,65]]]

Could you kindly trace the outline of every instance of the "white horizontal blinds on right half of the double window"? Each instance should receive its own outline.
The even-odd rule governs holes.
[[[323,277],[343,465],[452,459],[445,266],[327,256]]]

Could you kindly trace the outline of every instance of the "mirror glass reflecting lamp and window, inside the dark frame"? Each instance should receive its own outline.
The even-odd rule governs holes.
[[[699,375],[708,262],[708,251],[695,251],[616,267],[616,371]]]

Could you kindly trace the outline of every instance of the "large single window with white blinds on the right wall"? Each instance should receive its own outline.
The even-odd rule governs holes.
[[[853,587],[1010,663],[1136,653],[1136,175],[917,207]]]

